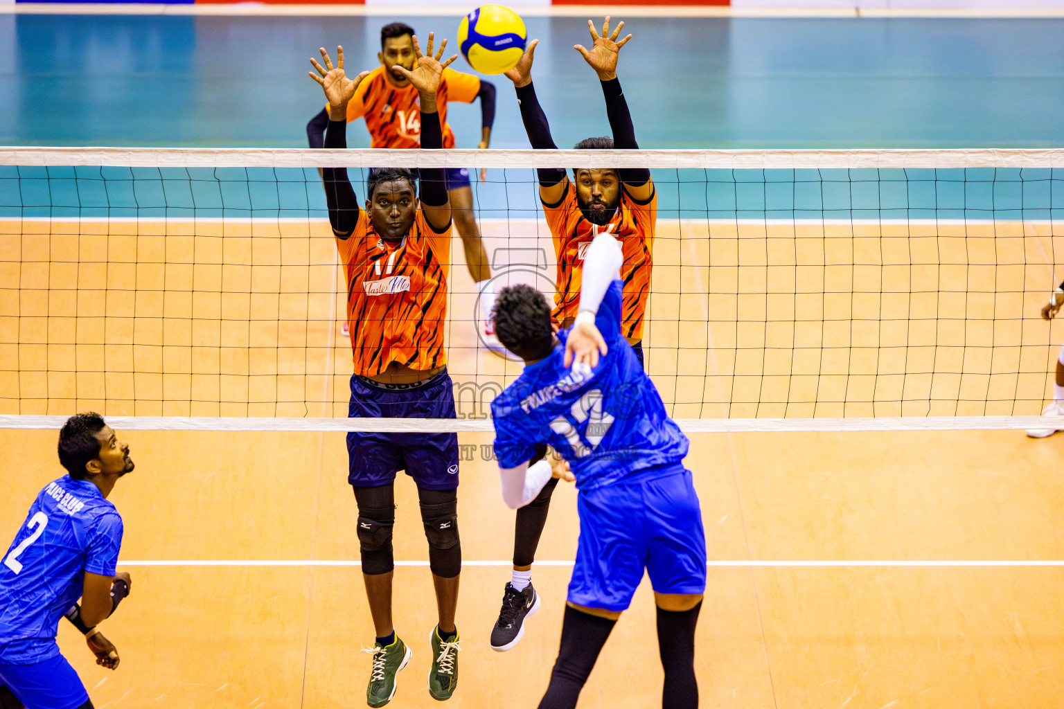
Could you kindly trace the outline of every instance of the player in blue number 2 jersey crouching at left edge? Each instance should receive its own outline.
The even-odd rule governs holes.
[[[98,413],[70,417],[60,432],[60,462],[68,474],[37,493],[0,560],[3,709],[92,709],[55,643],[61,617],[85,635],[98,664],[118,665],[115,646],[95,626],[130,590],[129,574],[115,571],[122,519],[106,500],[133,470],[129,451]]]

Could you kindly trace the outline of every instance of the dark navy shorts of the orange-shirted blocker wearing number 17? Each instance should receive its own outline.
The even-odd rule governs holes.
[[[348,416],[395,419],[454,419],[454,390],[444,370],[416,384],[379,384],[351,376]],[[459,486],[458,434],[350,432],[348,476],[354,487],[387,485],[405,470],[419,488],[453,490]]]

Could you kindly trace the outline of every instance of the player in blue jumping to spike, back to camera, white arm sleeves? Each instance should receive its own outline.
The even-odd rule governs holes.
[[[503,499],[527,505],[552,475],[565,474],[565,463],[535,460],[543,444],[565,458],[579,490],[580,540],[561,649],[539,709],[576,707],[644,570],[658,606],[662,705],[698,706],[695,626],[705,536],[681,462],[687,438],[620,332],[621,260],[612,234],[595,237],[568,331],[554,331],[550,306],[529,286],[503,289],[495,304],[499,341],[525,360],[520,377],[492,403]]]

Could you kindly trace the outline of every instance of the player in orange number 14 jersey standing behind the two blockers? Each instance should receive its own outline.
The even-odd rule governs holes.
[[[414,30],[402,22],[393,22],[381,29],[381,52],[377,57],[381,66],[370,71],[359,85],[355,95],[347,105],[348,122],[363,118],[369,130],[370,147],[416,149],[421,147],[421,119],[418,111],[418,92],[399,69],[408,71],[414,67]],[[447,123],[447,103],[472,103],[480,99],[481,140],[478,146],[487,148],[495,122],[495,86],[486,81],[462,73],[454,69],[444,70],[436,92],[436,107],[443,124],[444,148],[454,147],[454,133]],[[320,148],[329,108],[311,119],[306,135],[312,148]],[[447,190],[454,218],[454,227],[462,239],[469,275],[477,284],[481,304],[481,328],[483,341],[493,349],[499,349],[492,331],[488,317],[495,303],[495,291],[491,278],[491,261],[480,238],[480,230],[472,213],[472,188],[469,170],[449,168],[445,171]],[[481,171],[484,180],[484,171]]]

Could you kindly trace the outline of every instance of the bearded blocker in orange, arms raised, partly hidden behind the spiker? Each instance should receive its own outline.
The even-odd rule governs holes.
[[[587,138],[576,145],[578,150],[635,149],[635,131],[617,80],[617,56],[632,35],[617,40],[624,22],[610,33],[605,18],[602,35],[588,21],[592,48],[577,45],[587,64],[598,74],[605,98],[606,117],[613,138]],[[521,120],[529,141],[536,149],[556,148],[550,135],[547,117],[532,86],[532,60],[537,41],[533,40],[506,78],[514,82]],[[658,197],[650,171],[646,169],[579,169],[572,179],[564,169],[539,169],[539,199],[558,254],[554,308],[551,317],[559,327],[568,327],[576,319],[580,305],[580,287],[584,255],[599,233],[612,234],[620,244],[624,264],[620,334],[635,351],[643,366],[643,318],[650,293],[650,256],[658,216]],[[547,522],[550,496],[558,485],[552,479],[527,506],[517,510],[514,529],[513,577],[503,591],[502,608],[492,630],[492,647],[510,649],[523,635],[525,618],[539,607],[539,597],[532,587],[532,562]]]

